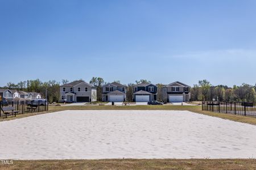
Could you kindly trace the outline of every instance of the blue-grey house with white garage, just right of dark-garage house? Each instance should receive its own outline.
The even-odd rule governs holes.
[[[117,82],[105,84],[102,87],[102,101],[126,101],[126,89],[126,85]]]

